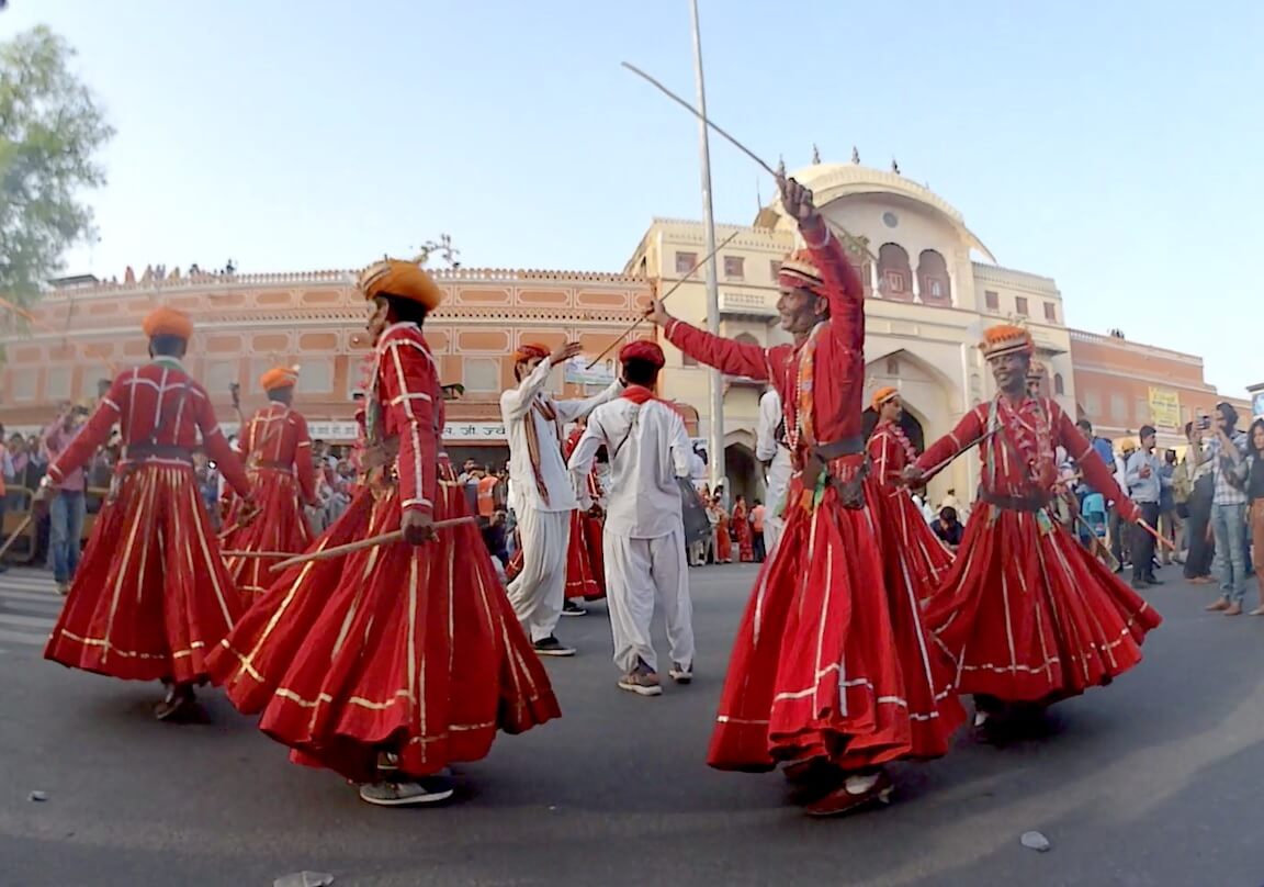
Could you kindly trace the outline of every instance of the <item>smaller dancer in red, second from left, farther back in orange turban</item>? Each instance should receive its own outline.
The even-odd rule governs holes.
[[[224,540],[225,550],[297,554],[311,544],[303,506],[316,504],[316,472],[307,420],[292,406],[297,382],[298,373],[288,367],[269,369],[259,380],[269,402],[250,416],[240,438],[259,516],[243,526],[234,505],[228,525],[236,529]],[[225,563],[249,609],[272,585],[268,568],[277,562],[229,557]]]

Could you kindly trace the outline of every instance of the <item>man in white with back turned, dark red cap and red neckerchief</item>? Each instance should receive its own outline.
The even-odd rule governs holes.
[[[693,450],[680,415],[653,396],[662,349],[632,342],[619,352],[622,397],[599,406],[570,456],[570,472],[588,505],[588,472],[605,447],[611,461],[607,487],[605,593],[614,638],[619,687],[641,696],[662,692],[650,624],[657,602],[667,623],[671,678],[693,679],[694,630],[689,599],[685,528],[676,478],[688,480]]]

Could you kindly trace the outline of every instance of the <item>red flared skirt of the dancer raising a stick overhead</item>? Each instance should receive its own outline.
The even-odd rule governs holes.
[[[793,481],[787,501],[801,492]],[[760,571],[729,661],[708,763],[767,771],[828,758],[860,769],[948,750],[964,712],[916,597],[884,578],[870,507],[829,487],[794,507]]]

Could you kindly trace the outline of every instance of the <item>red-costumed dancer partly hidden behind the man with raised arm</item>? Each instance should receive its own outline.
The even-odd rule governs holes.
[[[904,414],[900,392],[880,388],[872,406],[878,421],[870,435],[868,454],[881,488],[873,506],[881,528],[886,581],[894,587],[910,587],[919,601],[925,601],[948,574],[952,552],[939,542],[904,485],[904,469],[916,462],[918,454],[900,428]]]

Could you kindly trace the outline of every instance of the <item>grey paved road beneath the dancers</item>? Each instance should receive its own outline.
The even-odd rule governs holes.
[[[1174,571],[1164,571],[1173,573]],[[565,717],[463,767],[459,802],[378,810],[291,766],[221,697],[159,725],[152,686],[39,658],[59,604],[0,577],[0,884],[222,887],[300,869],[336,884],[1264,884],[1264,619],[1158,590],[1167,624],[1114,687],[1059,706],[1058,733],[899,769],[889,809],[809,821],[777,774],[703,764],[750,568],[694,572],[699,681],[614,687],[598,614],[551,661]],[[48,801],[28,801],[39,790]],[[1024,849],[1039,829],[1049,853]]]

